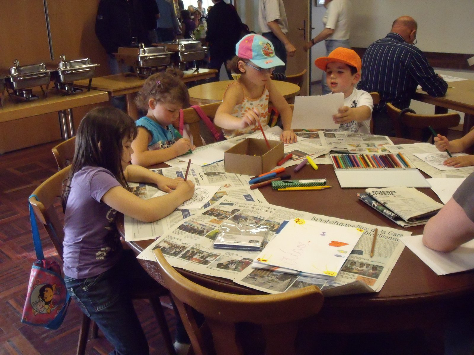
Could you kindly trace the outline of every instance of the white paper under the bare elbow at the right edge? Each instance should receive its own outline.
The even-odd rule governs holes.
[[[444,253],[426,247],[422,235],[401,237],[400,240],[438,275],[447,275],[474,268],[474,240]]]

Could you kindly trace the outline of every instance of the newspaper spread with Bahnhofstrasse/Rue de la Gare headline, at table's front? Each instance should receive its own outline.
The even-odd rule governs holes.
[[[253,269],[251,264],[260,254],[259,251],[223,250],[212,246],[219,225],[224,221],[238,222],[244,219],[266,225],[272,238],[284,221],[294,218],[365,230],[333,280]],[[375,228],[378,229],[377,242],[374,257],[371,258]],[[408,235],[411,232],[223,197],[218,203],[177,223],[138,257],[154,261],[153,250],[160,248],[168,262],[175,267],[225,277],[266,293],[281,293],[315,284],[328,297],[380,291],[404,248],[400,238]]]

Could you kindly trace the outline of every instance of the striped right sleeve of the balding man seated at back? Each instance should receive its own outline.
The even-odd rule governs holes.
[[[408,71],[421,86],[421,89],[426,91],[429,96],[438,98],[446,94],[447,82],[435,73],[420,50],[413,53],[413,57],[408,65]]]

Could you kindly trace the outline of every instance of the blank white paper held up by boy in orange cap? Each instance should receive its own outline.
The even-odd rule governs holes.
[[[332,116],[344,106],[344,94],[297,96],[293,110],[292,129],[339,128]]]

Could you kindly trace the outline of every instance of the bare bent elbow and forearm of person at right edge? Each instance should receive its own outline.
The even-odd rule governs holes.
[[[454,250],[473,238],[474,222],[453,198],[428,221],[423,231],[423,244],[438,251]]]

